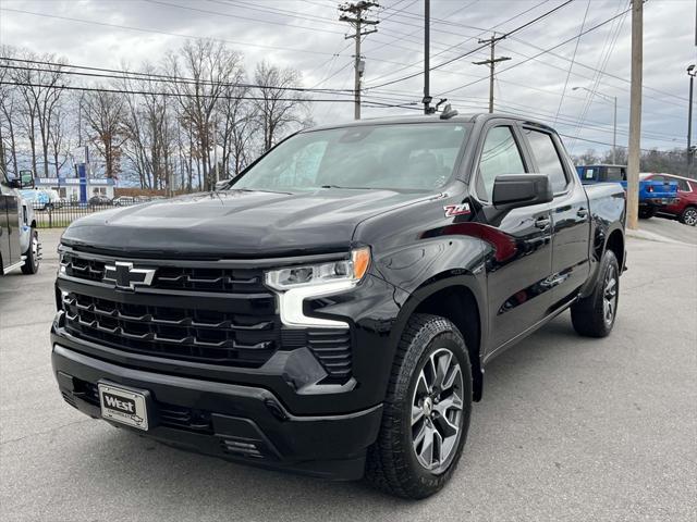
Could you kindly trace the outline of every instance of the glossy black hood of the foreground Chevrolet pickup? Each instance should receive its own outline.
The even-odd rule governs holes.
[[[362,221],[428,199],[423,192],[222,190],[98,212],[62,241],[133,257],[268,258],[346,251]]]

